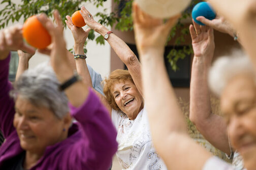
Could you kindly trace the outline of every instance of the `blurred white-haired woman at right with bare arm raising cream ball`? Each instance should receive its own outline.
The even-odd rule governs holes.
[[[142,12],[137,4],[133,8],[136,43],[142,61],[145,104],[152,139],[159,155],[169,169],[235,169],[211,155],[186,134],[184,117],[176,102],[163,59],[165,40],[175,17],[163,23],[163,20]],[[212,30],[204,31],[210,33]],[[252,170],[256,166],[256,75],[249,61],[241,62],[243,60],[246,58],[233,59],[234,65],[232,60],[218,64],[221,68],[229,68],[226,70],[229,78],[225,77],[226,81],[220,88],[221,110],[227,120],[232,146],[241,153],[245,167]],[[239,68],[237,64],[245,64],[242,67],[245,69],[229,74],[231,68]],[[224,73],[221,68],[218,68],[220,76]],[[218,86],[220,83],[215,80],[215,84]],[[161,116],[157,112],[161,112]]]

